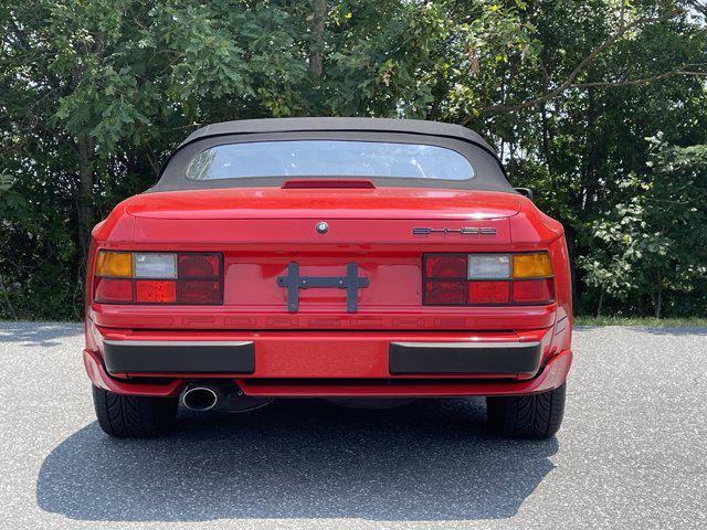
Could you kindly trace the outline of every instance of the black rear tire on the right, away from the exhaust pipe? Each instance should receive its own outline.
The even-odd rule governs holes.
[[[486,398],[489,428],[513,438],[549,438],[562,424],[566,384],[541,394]]]

